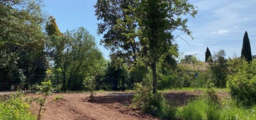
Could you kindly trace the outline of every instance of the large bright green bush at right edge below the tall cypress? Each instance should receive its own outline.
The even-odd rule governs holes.
[[[242,59],[241,63],[234,67],[234,74],[228,76],[227,87],[238,103],[251,106],[256,104],[256,61],[248,64]]]

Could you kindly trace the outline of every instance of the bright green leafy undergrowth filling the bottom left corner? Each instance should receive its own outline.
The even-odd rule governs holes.
[[[22,93],[2,96],[0,100],[0,120],[36,120],[36,117],[28,112],[28,104],[24,103]]]

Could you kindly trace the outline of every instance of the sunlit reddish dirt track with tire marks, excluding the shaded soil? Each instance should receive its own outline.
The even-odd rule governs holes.
[[[47,98],[52,100],[54,94]],[[61,94],[64,100],[48,104],[45,108],[42,120],[141,120],[135,116],[122,114],[118,110],[113,110],[107,106],[84,101],[88,94]],[[33,96],[33,95],[32,95]],[[39,107],[32,104],[30,111],[37,114]]]

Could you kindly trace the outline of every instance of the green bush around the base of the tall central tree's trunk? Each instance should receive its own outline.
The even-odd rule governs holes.
[[[152,89],[152,76],[147,74],[142,84],[135,83],[132,106],[162,119],[174,119],[176,110],[168,105],[162,94],[152,94]]]

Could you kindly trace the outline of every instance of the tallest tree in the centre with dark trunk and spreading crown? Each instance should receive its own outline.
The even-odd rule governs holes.
[[[101,43],[113,56],[143,61],[152,69],[156,93],[156,63],[174,46],[175,30],[191,36],[183,16],[195,17],[195,6],[188,0],[97,0],[95,12]]]

